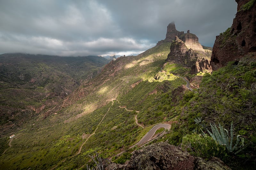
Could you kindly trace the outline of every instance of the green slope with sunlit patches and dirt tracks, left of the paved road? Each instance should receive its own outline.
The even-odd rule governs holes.
[[[15,138],[11,148],[5,145],[10,135],[2,137],[1,152],[7,150],[0,166],[79,168],[89,161],[88,154],[98,151],[104,157],[112,157],[137,143],[153,124],[175,117],[170,105],[177,105],[180,96],[172,98],[172,94],[177,90],[185,92],[181,85],[186,82],[161,72],[175,68],[163,67],[170,44],[165,42],[138,56],[111,61],[98,76],[81,84],[56,107],[12,130]],[[145,129],[136,124],[135,115],[140,124],[147,126]],[[77,154],[81,146],[81,153]]]

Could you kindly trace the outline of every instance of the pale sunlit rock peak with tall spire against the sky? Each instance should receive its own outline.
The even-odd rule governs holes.
[[[190,67],[191,74],[200,71],[212,72],[209,64],[212,51],[204,49],[199,43],[198,37],[187,31],[177,31],[175,24],[172,22],[167,26],[166,38],[158,41],[156,45],[164,42],[172,42],[170,53],[166,59],[167,62],[179,63],[185,67]]]

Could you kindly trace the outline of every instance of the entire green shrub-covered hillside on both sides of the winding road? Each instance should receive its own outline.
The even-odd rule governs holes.
[[[165,63],[170,43],[164,42],[138,56],[119,57],[95,78],[70,93],[54,114],[32,117],[19,129],[0,138],[2,169],[86,169],[93,164],[88,155],[124,163],[136,144],[153,125],[169,121],[172,129],[154,142],[182,146],[192,155],[215,156],[230,167],[255,166],[255,61],[249,56],[218,71],[204,74],[200,89],[188,91],[186,82],[173,74],[188,75],[189,69]],[[20,96],[22,98],[23,95]],[[61,107],[62,106],[62,107]],[[127,110],[125,110],[125,108]],[[138,123],[135,122],[137,115]],[[201,129],[210,123],[244,138],[245,149],[229,153]],[[8,145],[11,141],[12,147]],[[233,144],[233,145],[234,145]],[[240,146],[241,145],[241,146]],[[82,146],[82,147],[81,147]],[[238,147],[243,147],[239,143]],[[79,149],[81,152],[79,153]],[[12,165],[12,166],[10,166]]]

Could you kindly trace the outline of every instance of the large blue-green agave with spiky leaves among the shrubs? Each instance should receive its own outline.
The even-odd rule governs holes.
[[[212,133],[207,129],[208,133],[211,135],[211,137],[218,142],[220,145],[225,145],[226,148],[228,149],[228,152],[235,152],[235,155],[237,153],[239,153],[240,151],[242,151],[244,148],[246,148],[246,146],[244,145],[244,138],[241,137],[240,135],[236,136],[236,144],[234,146],[232,146],[233,144],[233,122],[231,123],[231,128],[230,128],[230,143],[228,140],[228,130],[224,129],[220,123],[220,131],[218,130],[217,126],[215,125],[215,123],[210,123],[211,128],[212,128]],[[204,131],[201,129],[201,131],[203,132],[203,135],[205,136]],[[238,147],[238,144],[242,142],[242,144]]]

